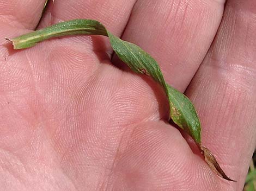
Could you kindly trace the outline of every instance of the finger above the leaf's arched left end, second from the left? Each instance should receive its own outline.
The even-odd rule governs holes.
[[[41,26],[77,18],[102,22],[108,30],[120,36],[129,19],[135,0],[62,0],[50,2]]]

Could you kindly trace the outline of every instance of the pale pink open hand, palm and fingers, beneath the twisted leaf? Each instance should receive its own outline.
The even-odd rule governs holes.
[[[39,28],[91,18],[149,52],[202,122],[202,144],[168,124],[159,86],[129,71],[106,37],[13,50],[45,1],[0,0],[2,190],[242,190],[256,143],[254,0],[62,0]]]

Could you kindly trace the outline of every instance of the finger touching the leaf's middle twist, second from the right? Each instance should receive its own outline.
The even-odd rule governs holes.
[[[184,91],[214,39],[223,4],[139,0],[122,38],[153,55],[167,82]]]

